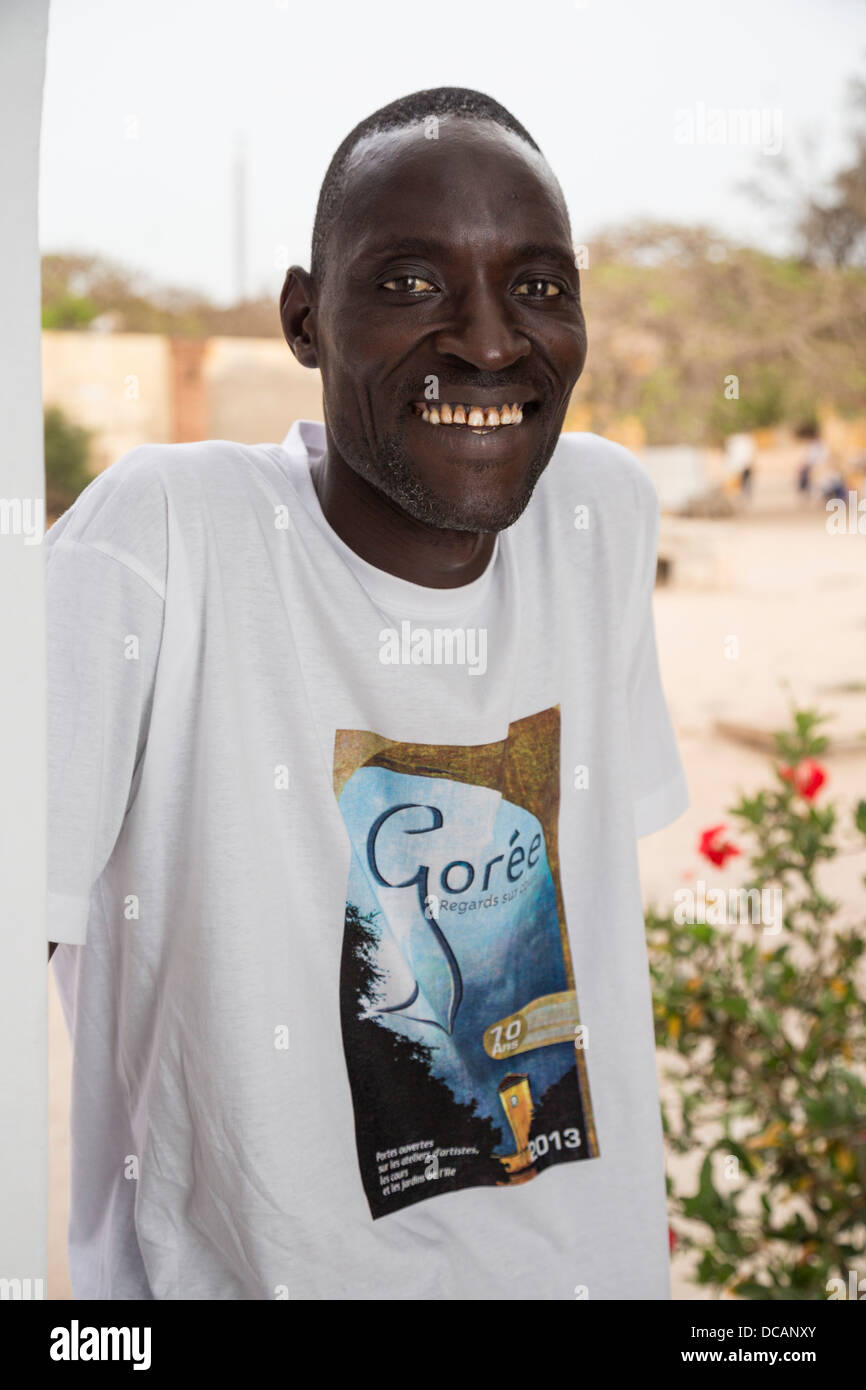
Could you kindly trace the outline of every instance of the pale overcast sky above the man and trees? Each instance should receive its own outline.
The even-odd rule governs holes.
[[[781,250],[738,185],[780,153],[833,172],[858,67],[863,0],[51,0],[40,245],[218,303],[239,285],[277,296],[285,265],[309,264],[352,126],[407,92],[470,86],[541,145],[575,243],[649,217]]]

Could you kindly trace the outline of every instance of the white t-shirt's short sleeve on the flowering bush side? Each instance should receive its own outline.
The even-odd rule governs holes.
[[[688,809],[688,787],[662,687],[652,596],[659,543],[659,500],[642,466],[638,491],[638,570],[626,624],[631,794],[638,837],[662,830]]]

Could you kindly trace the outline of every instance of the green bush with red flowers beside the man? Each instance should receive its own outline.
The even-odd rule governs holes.
[[[742,853],[746,890],[781,890],[773,933],[646,913],[667,1144],[702,1155],[696,1190],[669,1177],[671,1248],[741,1298],[826,1298],[866,1276],[866,922],[840,926],[819,883],[824,860],[866,851],[866,801],[849,828],[819,805],[822,723],[795,710],[773,785],[730,808],[742,849],[724,824],[698,845],[719,866]]]

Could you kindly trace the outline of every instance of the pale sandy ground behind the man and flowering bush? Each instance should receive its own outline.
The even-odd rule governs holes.
[[[787,480],[771,475],[759,475],[753,506],[741,517],[664,518],[663,528],[663,542],[678,559],[673,581],[656,591],[656,632],[691,809],[641,842],[641,873],[645,901],[670,905],[684,877],[696,872],[708,883],[735,881],[713,876],[699,860],[698,834],[724,820],[742,790],[766,781],[767,756],[720,737],[717,720],[778,728],[795,699],[834,714],[831,734],[851,739],[866,733],[866,535],[828,534],[820,507],[799,510]],[[830,753],[824,762],[828,794],[842,803],[866,795],[866,742],[862,751]],[[865,858],[851,856],[833,866],[827,880],[852,920],[863,905],[865,872]],[[50,997],[49,1297],[70,1298],[70,1045],[53,980]],[[688,1282],[678,1259],[673,1293],[681,1300],[708,1297]]]

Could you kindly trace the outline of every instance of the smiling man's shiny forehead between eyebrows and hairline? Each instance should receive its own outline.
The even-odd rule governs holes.
[[[353,150],[338,222],[356,252],[402,236],[453,240],[460,229],[471,239],[491,210],[524,240],[567,245],[562,192],[542,154],[491,121],[442,118],[434,129],[436,138],[424,124],[377,132]]]

